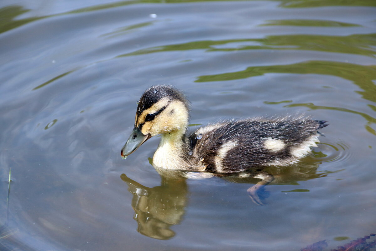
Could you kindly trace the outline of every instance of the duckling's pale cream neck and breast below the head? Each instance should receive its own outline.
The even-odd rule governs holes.
[[[161,142],[153,156],[153,163],[165,169],[186,169],[189,146],[186,128],[173,130],[161,135]]]

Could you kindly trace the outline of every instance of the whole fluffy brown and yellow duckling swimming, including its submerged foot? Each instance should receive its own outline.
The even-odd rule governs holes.
[[[153,86],[141,96],[133,131],[121,149],[126,158],[146,140],[161,134],[153,165],[165,170],[208,173],[252,171],[259,181],[247,192],[262,205],[257,191],[274,180],[265,166],[297,163],[315,146],[326,121],[306,117],[227,120],[197,129],[188,136],[188,101],[171,86]]]

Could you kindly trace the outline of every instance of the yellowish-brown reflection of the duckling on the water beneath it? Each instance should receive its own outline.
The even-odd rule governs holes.
[[[267,167],[275,177],[273,184],[299,185],[298,181],[305,181],[324,177],[330,171],[317,173],[318,162],[300,163],[288,168]],[[159,240],[171,239],[175,232],[170,228],[180,224],[188,204],[188,179],[205,180],[221,178],[230,183],[256,183],[252,170],[240,173],[210,173],[192,172],[186,170],[168,170],[156,167],[161,175],[161,185],[146,187],[124,173],[120,176],[128,185],[128,191],[133,195],[132,208],[135,211],[133,219],[138,224],[137,231],[145,236]],[[227,188],[226,188],[227,189]],[[293,192],[293,191],[292,191]],[[221,195],[218,195],[221,196]],[[227,209],[226,209],[227,210]]]

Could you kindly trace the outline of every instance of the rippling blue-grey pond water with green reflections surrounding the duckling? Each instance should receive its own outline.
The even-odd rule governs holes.
[[[375,14],[374,0],[1,2],[1,250],[330,250],[374,232]],[[121,158],[157,84],[186,94],[191,130],[330,125],[311,157],[268,168],[259,206],[254,180],[161,178],[158,137]]]

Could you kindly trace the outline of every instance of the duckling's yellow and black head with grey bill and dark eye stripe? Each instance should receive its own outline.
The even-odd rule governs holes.
[[[182,93],[171,86],[150,87],[138,102],[135,126],[121,156],[128,156],[155,135],[184,134],[188,119],[188,101]]]

